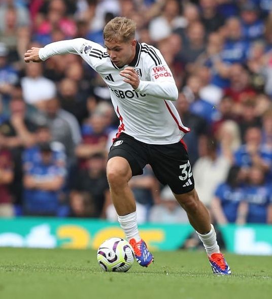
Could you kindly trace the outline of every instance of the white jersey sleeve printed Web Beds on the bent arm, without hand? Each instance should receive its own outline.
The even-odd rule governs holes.
[[[154,47],[145,49],[146,65],[150,75],[150,81],[140,80],[136,91],[156,96],[160,99],[176,101],[178,98],[178,88],[173,74],[165,62],[160,51]]]

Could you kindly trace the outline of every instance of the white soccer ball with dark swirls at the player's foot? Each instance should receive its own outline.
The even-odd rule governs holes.
[[[97,250],[99,266],[107,272],[127,272],[134,261],[131,245],[121,238],[104,241]]]

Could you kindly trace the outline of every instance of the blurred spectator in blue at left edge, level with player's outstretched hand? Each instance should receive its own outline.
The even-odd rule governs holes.
[[[8,63],[8,53],[6,44],[0,43],[0,92],[5,102],[9,100],[13,85],[19,79],[17,71]]]

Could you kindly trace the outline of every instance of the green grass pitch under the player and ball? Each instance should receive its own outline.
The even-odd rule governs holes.
[[[230,277],[217,277],[204,252],[155,252],[148,268],[100,270],[93,250],[0,248],[5,299],[270,299],[271,257],[226,254]]]

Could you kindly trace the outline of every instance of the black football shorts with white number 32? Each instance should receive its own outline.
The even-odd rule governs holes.
[[[194,188],[191,165],[182,140],[154,145],[121,133],[110,148],[108,160],[116,156],[128,161],[132,176],[143,174],[145,165],[150,164],[156,178],[161,184],[169,185],[175,194],[187,193]]]

